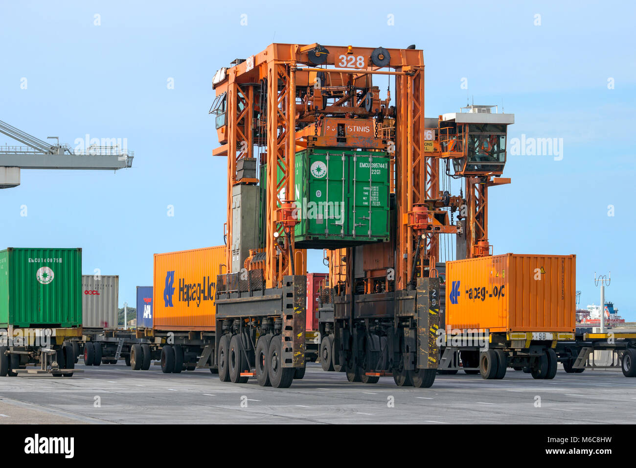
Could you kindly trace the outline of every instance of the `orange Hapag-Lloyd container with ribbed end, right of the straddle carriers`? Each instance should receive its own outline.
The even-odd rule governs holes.
[[[506,253],[446,262],[446,327],[574,332],[576,255]]]

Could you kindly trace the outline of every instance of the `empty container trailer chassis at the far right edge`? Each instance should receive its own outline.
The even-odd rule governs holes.
[[[597,364],[595,351],[611,351],[610,364]],[[559,341],[559,361],[568,373],[585,369],[621,369],[625,377],[636,377],[636,333],[577,330],[574,342]]]

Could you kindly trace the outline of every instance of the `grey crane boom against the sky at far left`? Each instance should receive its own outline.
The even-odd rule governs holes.
[[[47,143],[0,120],[0,132],[27,146],[0,146],[0,188],[20,185],[20,169],[92,169],[132,167],[134,153],[118,145],[93,145],[76,153],[68,145]]]

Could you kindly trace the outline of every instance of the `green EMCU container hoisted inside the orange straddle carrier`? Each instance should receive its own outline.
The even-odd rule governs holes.
[[[341,148],[296,153],[298,248],[389,241],[389,155]]]

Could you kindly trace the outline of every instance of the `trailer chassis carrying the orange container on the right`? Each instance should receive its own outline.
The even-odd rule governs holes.
[[[535,379],[553,379],[563,359],[559,343],[574,344],[574,333],[463,330],[452,336],[441,334],[439,372],[463,370],[484,379],[502,379],[512,368]]]

